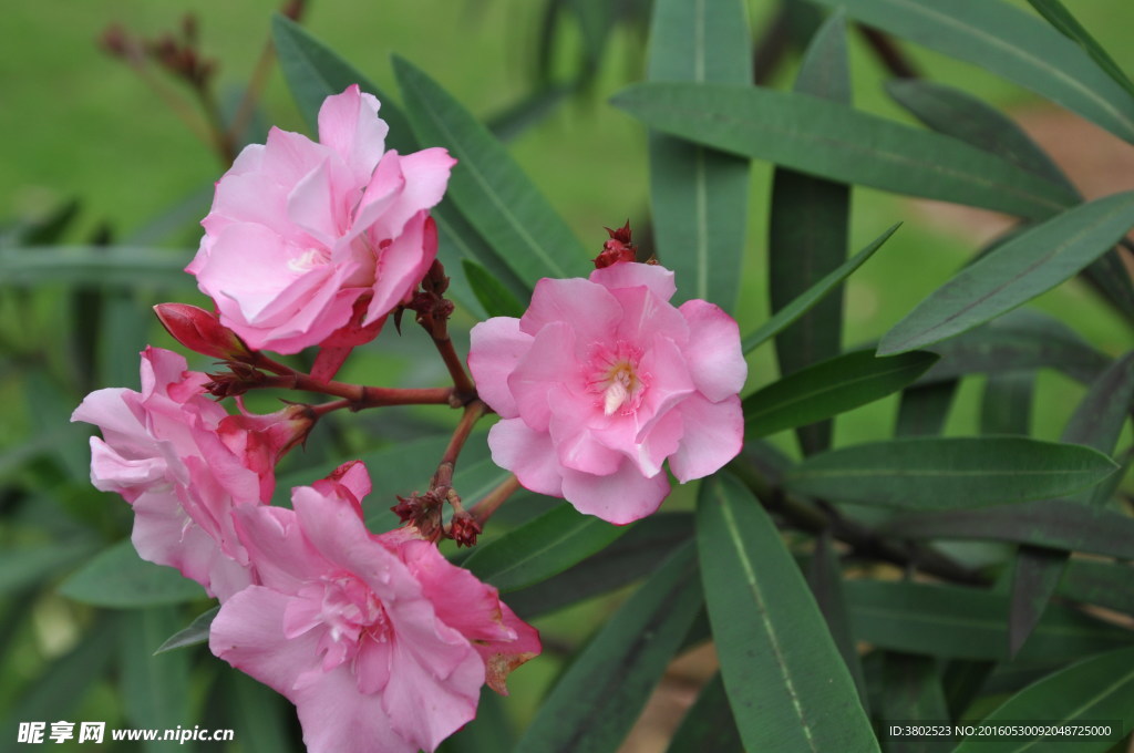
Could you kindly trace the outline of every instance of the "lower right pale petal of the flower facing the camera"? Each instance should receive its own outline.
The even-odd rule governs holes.
[[[685,483],[719,471],[739,455],[744,445],[744,412],[736,395],[720,403],[694,396],[679,407],[684,424],[682,446],[670,456],[669,467]]]

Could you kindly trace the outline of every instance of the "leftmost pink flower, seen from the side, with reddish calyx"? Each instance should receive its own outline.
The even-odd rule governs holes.
[[[206,374],[170,350],[142,353],[142,391],[96,390],[71,421],[95,424],[91,482],[134,508],[138,555],[226,599],[255,579],[231,510],[271,498],[274,464],[302,440],[304,406],[229,415],[202,392]]]

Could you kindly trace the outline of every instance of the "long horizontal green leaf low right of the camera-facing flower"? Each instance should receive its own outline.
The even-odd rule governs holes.
[[[793,491],[897,509],[951,509],[1057,497],[1118,466],[1101,452],[1021,437],[917,437],[815,455],[785,474]]]

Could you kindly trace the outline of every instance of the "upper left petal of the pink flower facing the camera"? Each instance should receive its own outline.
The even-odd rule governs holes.
[[[535,284],[532,305],[519,319],[521,331],[536,335],[552,323],[569,324],[581,345],[604,342],[615,331],[623,308],[609,290],[582,278]]]

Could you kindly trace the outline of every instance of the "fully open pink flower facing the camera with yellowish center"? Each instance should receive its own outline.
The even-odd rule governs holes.
[[[502,421],[497,465],[532,491],[617,524],[650,515],[683,483],[741,451],[747,376],[736,322],[669,303],[674,273],[615,263],[589,279],[540,280],[521,319],[473,328],[468,366]]]

